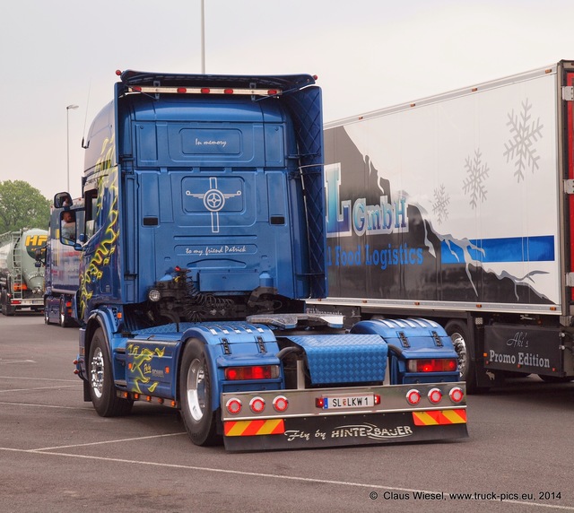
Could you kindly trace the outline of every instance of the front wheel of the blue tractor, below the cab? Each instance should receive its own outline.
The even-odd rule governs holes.
[[[87,371],[91,404],[101,417],[118,417],[132,410],[134,401],[116,396],[108,344],[99,327],[91,337]]]

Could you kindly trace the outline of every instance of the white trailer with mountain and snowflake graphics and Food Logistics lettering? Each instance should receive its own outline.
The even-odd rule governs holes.
[[[444,326],[469,390],[574,379],[574,61],[325,126],[329,297]]]

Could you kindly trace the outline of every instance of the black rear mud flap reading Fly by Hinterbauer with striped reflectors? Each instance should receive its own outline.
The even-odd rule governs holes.
[[[465,410],[288,418],[284,419],[284,430],[279,434],[253,434],[256,428],[252,422],[245,422],[226,429],[233,436],[223,437],[225,448],[230,451],[326,448],[468,437]]]

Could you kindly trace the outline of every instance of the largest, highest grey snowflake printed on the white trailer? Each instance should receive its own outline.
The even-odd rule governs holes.
[[[530,109],[532,105],[528,99],[521,102],[522,109],[515,114],[514,109],[507,116],[509,121],[507,126],[510,127],[512,137],[507,143],[504,143],[505,151],[503,155],[506,161],[514,161],[516,170],[514,176],[517,181],[524,179],[526,169],[529,168],[533,173],[538,169],[538,160],[534,143],[543,137],[542,129],[544,125],[540,123],[540,117],[535,121],[531,120]]]

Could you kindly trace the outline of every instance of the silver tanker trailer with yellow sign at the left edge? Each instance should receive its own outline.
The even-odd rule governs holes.
[[[5,316],[44,308],[44,271],[36,251],[46,244],[48,231],[22,229],[0,235],[0,309]]]

